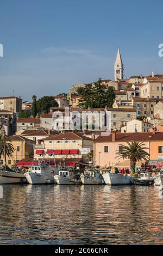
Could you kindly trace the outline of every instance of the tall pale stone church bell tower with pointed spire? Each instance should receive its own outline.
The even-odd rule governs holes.
[[[114,64],[114,80],[123,79],[123,63],[120,53],[120,48],[118,48],[117,56]]]

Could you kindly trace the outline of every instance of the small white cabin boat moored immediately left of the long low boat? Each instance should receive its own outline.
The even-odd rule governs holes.
[[[84,185],[101,185],[104,184],[103,176],[92,170],[86,170],[84,174],[80,175],[80,179],[82,180],[82,184]]]

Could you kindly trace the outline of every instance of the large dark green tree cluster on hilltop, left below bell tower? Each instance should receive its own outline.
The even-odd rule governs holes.
[[[78,106],[83,108],[112,107],[115,99],[114,89],[106,88],[102,84],[101,78],[94,85],[88,84],[84,87],[81,96]]]

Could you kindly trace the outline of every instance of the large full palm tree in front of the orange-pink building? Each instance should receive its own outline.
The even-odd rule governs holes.
[[[126,146],[120,146],[120,150],[116,153],[119,156],[118,159],[127,158],[130,160],[131,173],[135,172],[136,161],[140,161],[141,159],[147,161],[149,159],[149,154],[146,151],[148,148],[144,147],[145,144],[142,142],[131,141],[127,142]]]

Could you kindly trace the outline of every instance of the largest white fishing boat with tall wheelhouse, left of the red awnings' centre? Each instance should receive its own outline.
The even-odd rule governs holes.
[[[25,176],[29,184],[51,184],[54,183],[53,177],[56,172],[58,172],[56,167],[39,164],[30,167]]]

